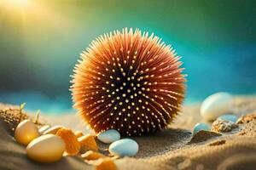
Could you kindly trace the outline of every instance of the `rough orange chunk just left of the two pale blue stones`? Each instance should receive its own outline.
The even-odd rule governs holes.
[[[84,135],[80,137],[78,140],[82,150],[99,150],[94,139],[94,136],[92,136],[91,134]]]

